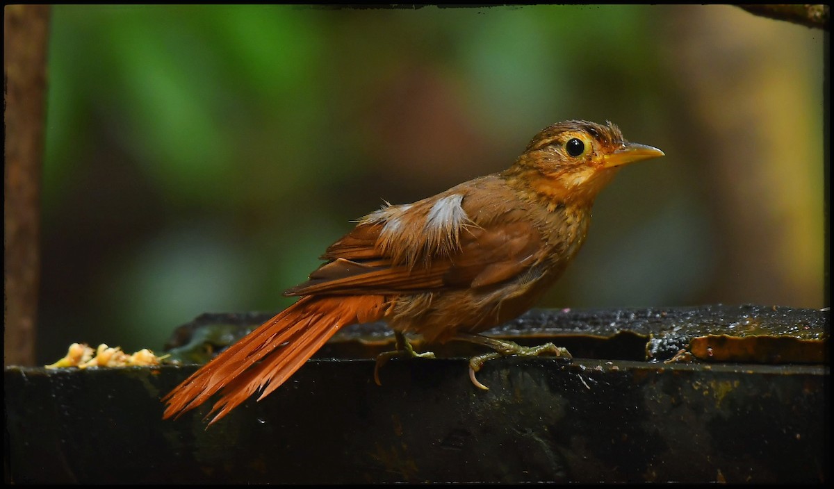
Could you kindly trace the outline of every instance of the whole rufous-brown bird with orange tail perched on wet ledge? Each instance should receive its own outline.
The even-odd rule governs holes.
[[[163,418],[178,417],[219,394],[206,415],[219,421],[247,398],[268,396],[340,328],[384,321],[395,350],[426,343],[475,342],[493,352],[472,357],[470,379],[505,356],[570,353],[553,343],[521,347],[480,334],[520,316],[560,277],[580,250],[595,197],[626,164],[665,156],[628,142],[619,127],[557,122],[533,137],[503,172],[476,177],[434,197],[384,205],[330,245],[324,264],[284,295],[299,300],[200,367],[163,397]]]

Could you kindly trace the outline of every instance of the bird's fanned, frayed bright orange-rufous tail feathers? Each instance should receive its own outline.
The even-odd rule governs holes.
[[[261,390],[260,401],[283,384],[339,328],[378,321],[383,296],[307,296],[234,343],[163,397],[164,418],[198,407],[218,391],[212,424]]]

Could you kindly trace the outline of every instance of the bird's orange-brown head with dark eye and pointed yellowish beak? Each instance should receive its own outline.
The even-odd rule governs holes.
[[[620,167],[661,156],[656,147],[626,141],[611,122],[573,120],[536,134],[505,175],[550,202],[590,205]]]

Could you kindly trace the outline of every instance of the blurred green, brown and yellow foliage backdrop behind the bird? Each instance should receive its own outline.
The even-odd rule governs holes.
[[[822,44],[734,7],[55,6],[38,360],[277,311],[349,220],[567,118],[667,157],[620,172],[543,307],[821,307]],[[727,122],[771,107],[786,129]]]

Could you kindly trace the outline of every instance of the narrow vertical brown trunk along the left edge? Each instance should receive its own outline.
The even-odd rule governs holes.
[[[6,165],[4,365],[32,365],[38,307],[38,231],[49,7],[4,7]]]

